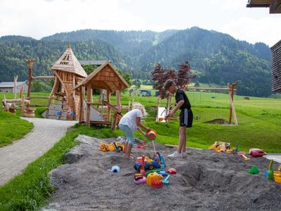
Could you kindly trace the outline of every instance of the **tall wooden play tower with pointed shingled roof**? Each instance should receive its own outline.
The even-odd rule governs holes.
[[[79,110],[81,107],[79,95],[84,94],[84,91],[74,91],[74,87],[79,84],[86,76],[86,72],[80,65],[76,56],[70,47],[52,66],[53,75],[55,78],[53,89],[48,96],[45,117],[57,118],[58,120],[78,120]],[[53,102],[51,102],[53,100]],[[55,101],[60,103],[55,104]]]

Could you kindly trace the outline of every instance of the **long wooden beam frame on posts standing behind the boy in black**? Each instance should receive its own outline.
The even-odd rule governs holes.
[[[230,84],[228,83],[228,88],[215,88],[215,87],[192,87],[192,88],[186,88],[186,90],[192,90],[192,91],[228,91],[228,96],[230,100],[230,109],[229,109],[229,118],[228,118],[228,124],[231,124],[232,119],[234,119],[235,125],[238,125],[237,116],[235,112],[235,107],[233,103],[233,96],[234,92],[236,91],[235,87],[237,86],[237,82]],[[171,95],[167,98],[167,104],[166,107],[160,107],[160,101],[161,99],[157,98],[157,117],[156,122],[166,122],[168,120],[164,120],[164,117],[169,113],[169,109],[171,107]]]

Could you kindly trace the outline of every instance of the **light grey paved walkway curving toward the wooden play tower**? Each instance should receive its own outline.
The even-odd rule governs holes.
[[[30,162],[46,153],[55,142],[65,136],[68,127],[77,123],[26,117],[22,119],[32,122],[34,128],[23,139],[0,148],[0,186],[20,174]]]

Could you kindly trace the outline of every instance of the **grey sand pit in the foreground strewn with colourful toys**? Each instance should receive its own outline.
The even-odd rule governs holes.
[[[103,153],[99,139],[79,136],[81,145],[72,149],[70,162],[50,172],[57,189],[45,209],[54,210],[281,210],[281,184],[268,181],[263,172],[266,158],[244,161],[237,155],[188,149],[188,158],[171,160],[174,148],[155,143],[164,155],[171,175],[169,185],[159,189],[133,184],[134,160],[123,153]],[[151,143],[133,148],[133,155],[152,156]],[[72,159],[69,159],[69,158]],[[119,173],[108,172],[119,165]],[[260,174],[248,173],[257,165]],[[273,166],[277,169],[277,163]],[[166,168],[166,169],[167,169]]]

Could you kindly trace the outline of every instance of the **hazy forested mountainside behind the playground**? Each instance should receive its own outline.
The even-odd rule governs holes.
[[[225,86],[238,81],[237,94],[268,96],[271,90],[270,49],[228,34],[192,27],[188,30],[122,31],[79,30],[44,37],[0,38],[0,81],[14,75],[27,79],[24,58],[35,58],[34,75],[51,75],[50,65],[70,42],[79,60],[112,60],[133,78],[150,79],[155,63],[178,69],[188,58],[195,81]]]

